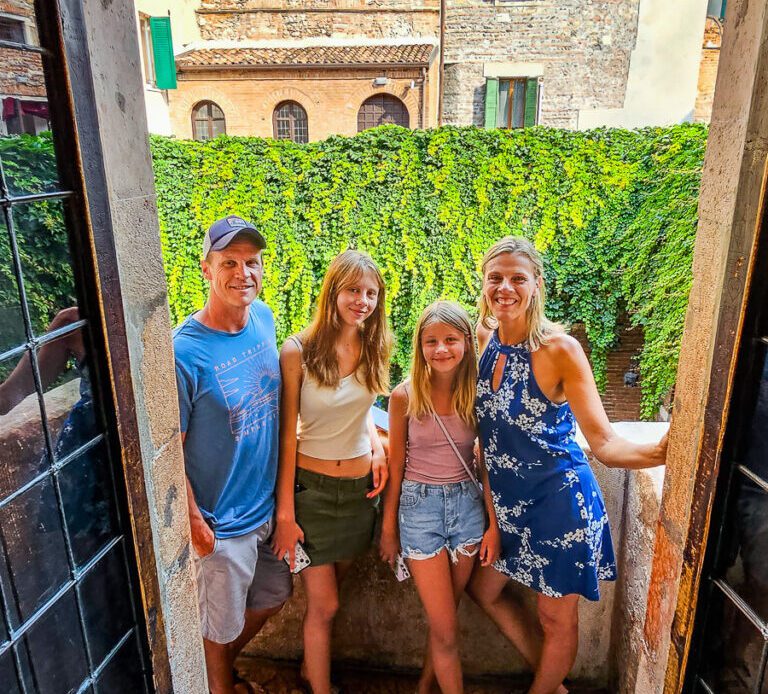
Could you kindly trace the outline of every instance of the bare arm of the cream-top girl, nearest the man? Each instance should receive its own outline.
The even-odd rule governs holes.
[[[304,541],[304,533],[296,523],[294,485],[296,483],[296,431],[301,397],[301,352],[293,340],[287,340],[280,350],[280,462],[277,469],[277,523],[272,549],[278,557],[286,552],[293,570],[297,542]]]

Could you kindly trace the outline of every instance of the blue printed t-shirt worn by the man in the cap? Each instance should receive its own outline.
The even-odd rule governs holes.
[[[237,333],[190,316],[173,348],[195,501],[216,537],[244,535],[275,508],[280,365],[272,312],[254,301]]]

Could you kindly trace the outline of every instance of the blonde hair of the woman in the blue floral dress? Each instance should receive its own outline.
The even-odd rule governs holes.
[[[503,239],[499,239],[494,243],[483,256],[483,263],[481,266],[483,283],[485,283],[485,273],[488,268],[488,263],[505,253],[522,255],[531,262],[531,265],[533,265],[533,275],[537,282],[538,291],[534,292],[531,297],[531,303],[526,311],[528,323],[528,337],[526,338],[526,342],[528,343],[528,349],[535,352],[542,345],[548,344],[553,335],[563,332],[562,325],[554,323],[544,315],[544,301],[546,298],[544,291],[544,261],[534,245],[528,239],[525,239],[522,236],[505,236]],[[498,327],[498,321],[493,317],[491,307],[485,300],[485,292],[480,295],[478,308],[480,309],[481,325],[488,328],[488,330],[495,330]]]

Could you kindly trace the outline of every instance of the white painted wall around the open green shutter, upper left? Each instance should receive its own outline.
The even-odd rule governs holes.
[[[174,54],[183,52],[190,43],[200,40],[200,27],[197,25],[195,15],[195,10],[200,6],[200,0],[134,0],[134,5],[139,43],[141,43],[139,13],[150,17],[170,14]],[[156,135],[172,135],[166,92],[148,85],[144,80],[144,101],[147,107],[149,132]]]

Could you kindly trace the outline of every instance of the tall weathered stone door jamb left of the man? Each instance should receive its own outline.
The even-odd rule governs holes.
[[[83,0],[83,10],[171,677],[176,692],[204,692],[135,9],[130,0]]]

